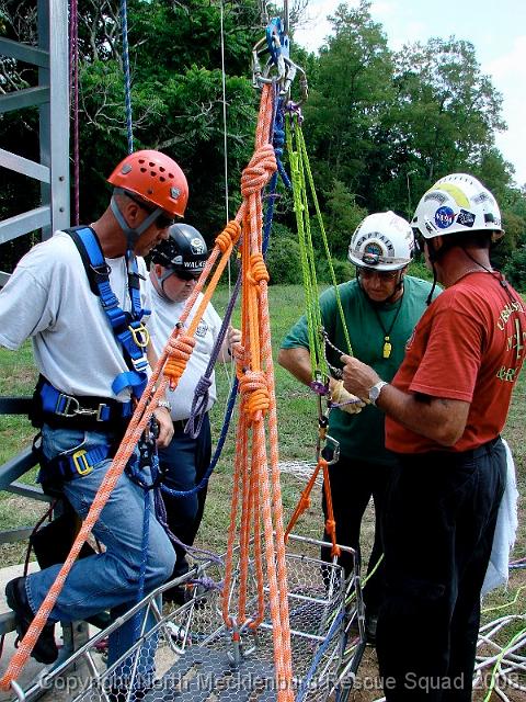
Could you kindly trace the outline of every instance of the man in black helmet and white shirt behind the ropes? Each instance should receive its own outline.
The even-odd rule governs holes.
[[[179,321],[186,299],[192,294],[208,258],[204,238],[191,225],[175,224],[169,229],[169,238],[152,251],[152,265],[148,280],[152,306],[149,328],[153,348],[158,354],[161,353]],[[202,299],[203,294],[199,294],[185,321],[185,327],[192,322]],[[206,371],[220,326],[221,319],[210,303],[195,332],[196,344],[179,385],[173,393],[167,392],[174,433],[170,445],[159,451],[159,462],[161,469],[165,471],[165,485],[173,490],[195,488],[210,463],[211,438],[208,411],[217,397],[214,374],[208,388],[208,406],[198,434],[193,438],[185,428],[192,410],[195,387]],[[231,344],[240,339],[240,332],[230,328],[218,360],[228,360]],[[203,517],[206,486],[184,497],[171,496],[164,491],[163,498],[170,530],[180,541],[191,546]],[[185,550],[179,545],[174,545],[174,548],[178,561],[173,578],[188,570]],[[175,587],[164,592],[167,600],[178,603],[184,601],[184,588]]]

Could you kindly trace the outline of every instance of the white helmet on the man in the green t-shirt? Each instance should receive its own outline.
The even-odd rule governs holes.
[[[368,215],[356,227],[348,260],[376,271],[398,271],[411,261],[414,237],[409,222],[393,212]]]

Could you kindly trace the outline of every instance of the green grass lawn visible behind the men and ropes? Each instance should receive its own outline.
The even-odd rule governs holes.
[[[272,286],[270,288],[271,318],[274,359],[283,337],[301,314],[304,306],[300,286]],[[217,292],[215,306],[222,314],[228,302],[228,290]],[[239,309],[236,310],[235,324],[239,324]],[[213,410],[214,435],[217,438],[222,422],[222,412],[231,380],[232,370],[229,365],[217,369],[219,400]],[[16,353],[0,350],[0,390],[2,394],[31,394],[36,380],[33,366],[31,346],[26,344]],[[279,456],[282,461],[308,461],[315,463],[315,445],[317,437],[317,406],[312,394],[297,383],[286,371],[276,365],[275,371],[276,396],[279,422]],[[503,432],[515,456],[517,483],[521,492],[519,528],[515,545],[514,558],[526,557],[526,446],[524,444],[524,416],[526,410],[526,371],[521,376],[515,389],[510,417]],[[214,473],[202,530],[198,534],[201,545],[217,552],[224,552],[227,543],[229,523],[230,495],[232,488],[232,462],[235,441],[232,435],[235,422],[230,429],[221,460]],[[33,429],[27,420],[20,417],[0,417],[0,460],[11,457],[21,446],[26,445],[33,437]],[[34,472],[24,476],[28,482],[34,479]],[[283,502],[285,519],[290,516],[299,497],[302,482],[296,477],[283,476]],[[298,524],[297,532],[304,535],[319,537],[322,532],[322,514],[320,496],[312,496],[312,505]],[[0,494],[0,529],[27,525],[34,523],[37,514],[44,512],[42,503],[34,503],[7,492]],[[366,513],[364,522],[365,554],[370,547],[374,529],[371,510]],[[7,544],[1,546],[2,565],[23,562],[23,546]],[[525,612],[525,591],[523,590],[512,603],[517,589],[526,585],[526,570],[514,570],[507,589],[493,591],[484,600],[484,608],[503,607],[504,609],[488,612],[483,621],[491,621],[507,613]],[[517,627],[516,627],[517,629]],[[506,632],[510,638],[515,633],[513,627]],[[518,629],[517,629],[518,631]],[[365,702],[367,698],[356,700]],[[374,697],[369,699],[375,699]]]

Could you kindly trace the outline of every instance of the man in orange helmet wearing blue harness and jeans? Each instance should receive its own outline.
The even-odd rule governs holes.
[[[146,385],[147,270],[138,257],[168,237],[188,195],[184,173],[159,151],[129,155],[108,182],[114,192],[103,215],[90,227],[56,231],[35,246],[0,293],[0,344],[15,350],[31,337],[41,374],[33,414],[42,430],[41,480],[58,487],[81,518],[111,464],[134,399]],[[158,444],[168,445],[173,434],[170,414],[159,407],[156,418]],[[50,664],[57,658],[53,622],[83,620],[102,610],[117,615],[135,603],[144,558],[144,511],[142,489],[123,474],[93,530],[106,550],[73,565],[34,647],[37,660]],[[173,566],[173,548],[152,516],[145,591],[164,582]],[[20,636],[59,568],[8,584]],[[111,637],[110,664],[133,639],[132,625],[119,631],[118,642]]]

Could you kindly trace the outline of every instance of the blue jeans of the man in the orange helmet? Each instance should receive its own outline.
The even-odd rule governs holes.
[[[102,432],[77,429],[42,430],[43,451],[47,458],[80,448],[90,451],[108,444],[113,437]],[[101,461],[88,475],[64,483],[62,490],[75,511],[84,519],[104,478],[111,461]],[[149,482],[149,476],[147,478]],[[163,528],[155,518],[151,492],[145,595],[162,585],[171,575],[175,555]],[[142,519],[145,492],[121,475],[94,528],[93,534],[105,553],[77,561],[50,612],[50,621],[71,622],[111,610],[118,616],[137,602],[139,571],[142,563]],[[27,598],[37,611],[50,589],[61,565],[45,568],[26,579]],[[135,643],[135,622],[129,620],[111,636],[108,665]],[[142,670],[142,672],[146,672]]]

